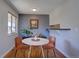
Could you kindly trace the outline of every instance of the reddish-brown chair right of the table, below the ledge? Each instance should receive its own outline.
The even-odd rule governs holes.
[[[56,38],[53,36],[50,36],[49,38],[49,43],[44,45],[43,48],[47,49],[47,57],[48,57],[48,53],[49,53],[49,49],[53,49],[54,52],[54,56],[56,57],[55,54],[55,42],[56,42]]]

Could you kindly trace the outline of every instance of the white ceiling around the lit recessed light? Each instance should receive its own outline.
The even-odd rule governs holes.
[[[58,6],[62,5],[65,0],[9,0],[20,14],[49,14]],[[32,9],[37,11],[33,12]]]

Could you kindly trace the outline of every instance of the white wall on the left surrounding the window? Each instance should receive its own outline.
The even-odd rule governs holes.
[[[4,0],[0,0],[0,57],[14,47],[15,35],[8,36],[8,11],[17,16],[18,21],[18,13],[11,9]]]

